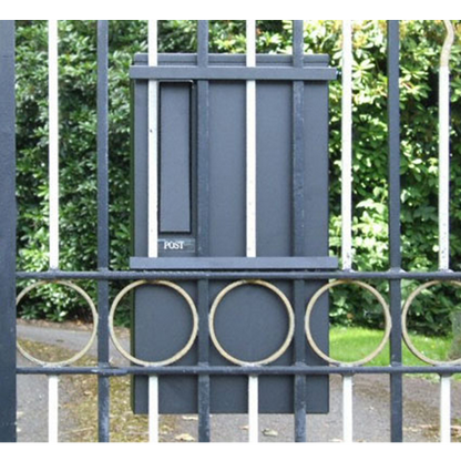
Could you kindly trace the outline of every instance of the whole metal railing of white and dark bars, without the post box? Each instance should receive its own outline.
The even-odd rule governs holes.
[[[102,445],[110,444],[110,378],[121,376],[147,376],[150,377],[150,441],[155,445],[158,437],[158,380],[166,376],[195,376],[198,379],[198,427],[201,444],[211,443],[211,377],[215,376],[245,376],[248,377],[248,417],[249,442],[258,443],[258,379],[262,376],[293,376],[295,387],[305,386],[306,378],[313,376],[338,375],[344,378],[344,443],[354,443],[354,376],[356,375],[387,375],[391,380],[391,443],[403,444],[403,376],[404,375],[436,375],[440,376],[441,411],[440,433],[441,443],[451,443],[451,379],[460,373],[459,361],[452,363],[431,362],[431,367],[407,367],[402,360],[402,337],[409,342],[406,335],[406,322],[402,324],[402,280],[436,280],[437,283],[461,281],[461,273],[450,272],[449,262],[449,180],[450,180],[450,150],[449,150],[449,66],[447,60],[442,62],[441,71],[441,100],[440,100],[440,270],[436,273],[407,273],[402,270],[401,232],[400,232],[400,31],[398,18],[389,18],[388,21],[388,60],[389,60],[389,208],[390,208],[390,269],[379,273],[352,272],[352,18],[344,18],[344,68],[342,68],[342,270],[315,273],[283,270],[242,272],[228,270],[225,263],[215,270],[163,270],[163,272],[112,272],[110,270],[110,242],[109,242],[109,21],[107,18],[98,19],[98,204],[99,204],[99,270],[69,273],[60,270],[59,255],[59,73],[58,73],[58,18],[49,19],[49,68],[50,68],[50,270],[48,273],[17,273],[16,272],[16,184],[14,184],[14,18],[0,18],[0,209],[2,212],[2,226],[0,228],[0,441],[14,444],[17,441],[17,375],[41,375],[49,377],[49,440],[50,444],[59,442],[59,378],[66,375],[93,375],[99,378],[99,442]],[[294,23],[294,65],[301,65],[304,55],[304,18],[295,18]],[[256,18],[247,18],[247,66],[256,66]],[[208,18],[201,17],[198,24],[198,65],[208,65]],[[451,33],[444,49],[449,54],[451,47]],[[158,63],[158,18],[148,18],[148,63],[155,66]],[[205,90],[202,94],[207,98],[208,82],[201,81]],[[295,84],[296,85],[296,84]],[[295,91],[301,91],[296,90]],[[157,197],[157,120],[156,112],[158,101],[158,84],[154,80],[148,83],[150,99],[150,257],[158,256],[158,197]],[[256,82],[247,82],[247,257],[257,256],[256,253]],[[206,104],[206,101],[198,101]],[[207,123],[206,116],[202,123]],[[198,130],[206,126],[198,126]],[[204,144],[206,140],[198,139]],[[296,148],[296,146],[295,146]],[[204,211],[202,211],[204,212]],[[205,212],[204,212],[205,213]],[[75,358],[65,363],[44,363],[28,357],[34,361],[34,367],[19,368],[16,363],[16,280],[40,280],[39,284],[65,284],[69,288],[79,291],[88,301],[94,315],[94,335],[98,334],[99,366],[91,368],[74,367]],[[307,367],[294,363],[289,367],[264,367],[252,363],[240,366],[214,367],[208,363],[211,335],[213,330],[208,324],[211,300],[208,295],[209,280],[338,280],[327,285],[322,291],[337,284],[356,284],[361,288],[372,290],[378,297],[387,316],[387,335],[383,345],[390,342],[390,367],[366,367],[368,358],[359,363],[340,363],[325,357],[309,335],[309,313],[306,319],[307,340],[314,350],[326,359],[326,366]],[[73,280],[72,283],[70,280]],[[74,285],[78,280],[95,280],[99,285],[98,303],[88,297],[81,288]],[[196,330],[192,340],[198,342],[199,362],[193,367],[144,363],[142,367],[113,367],[110,362],[110,283],[113,280],[126,280],[143,283],[158,283],[158,280],[198,281],[197,300],[189,300],[193,313],[196,313]],[[267,280],[267,281],[265,281]],[[387,280],[390,284],[390,305],[369,285],[361,280]],[[432,283],[432,281],[431,281]],[[432,285],[434,285],[433,283]],[[431,285],[431,286],[432,286]],[[139,286],[135,285],[134,288]],[[174,285],[176,287],[176,285]],[[428,287],[429,285],[424,285]],[[35,286],[31,286],[20,295],[18,303]],[[412,296],[406,305],[407,313],[411,301],[421,293]],[[310,300],[310,308],[315,307],[315,300],[320,293]],[[195,304],[196,303],[196,304]],[[290,313],[290,303],[288,311]],[[304,304],[304,300],[303,300]],[[95,308],[98,305],[98,311]],[[116,305],[114,306],[116,307]],[[303,306],[301,306],[303,307]],[[305,306],[303,307],[305,309]],[[299,318],[297,319],[299,321]],[[289,338],[290,340],[293,338]],[[116,342],[116,341],[115,341]],[[409,342],[411,349],[411,340]],[[378,351],[381,351],[382,347]],[[412,349],[414,351],[414,349]],[[83,354],[88,351],[85,348]],[[378,352],[377,351],[377,352]],[[416,351],[417,352],[417,351]],[[79,355],[81,357],[81,355]],[[376,357],[376,354],[373,355]],[[303,398],[295,399],[295,438],[297,444],[307,443],[306,429],[306,402]]]

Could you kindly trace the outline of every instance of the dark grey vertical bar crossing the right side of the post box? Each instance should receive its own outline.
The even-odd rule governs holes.
[[[293,31],[294,66],[304,68],[304,17],[295,17]],[[294,203],[294,256],[305,256],[305,83],[294,83],[294,153],[293,153],[293,203]],[[306,363],[306,340],[304,318],[306,315],[306,284],[295,281],[296,339],[295,359],[297,365]],[[306,377],[295,377],[295,443],[307,444],[307,396]]]

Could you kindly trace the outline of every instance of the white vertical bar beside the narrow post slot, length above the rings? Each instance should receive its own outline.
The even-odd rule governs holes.
[[[158,18],[148,17],[148,65],[158,65]],[[158,257],[158,82],[148,82],[148,257]]]

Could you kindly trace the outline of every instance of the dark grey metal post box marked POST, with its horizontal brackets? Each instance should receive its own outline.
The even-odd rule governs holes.
[[[329,270],[328,226],[328,86],[336,78],[327,57],[305,57],[295,68],[291,57],[258,57],[246,68],[244,55],[209,55],[198,65],[196,55],[161,55],[157,68],[137,55],[133,79],[133,258],[136,270],[184,273],[177,281],[198,305],[203,290],[209,309],[218,294],[238,277],[253,273]],[[158,253],[147,256],[148,80],[158,82]],[[257,257],[246,258],[246,82],[256,81],[256,242]],[[204,84],[205,83],[205,84]],[[187,273],[207,273],[204,283]],[[233,276],[227,280],[225,274]],[[214,277],[218,273],[219,277]],[[167,279],[167,276],[164,277]],[[272,366],[325,365],[308,347],[304,315],[322,283],[296,283],[289,277],[268,280],[294,306],[295,339]],[[201,284],[204,284],[201,286]],[[199,288],[201,287],[201,288]],[[300,291],[299,291],[300,287]],[[202,299],[198,300],[199,290]],[[208,310],[205,316],[208,315]],[[203,309],[201,316],[204,316]],[[201,327],[207,319],[201,318]],[[314,329],[328,351],[328,298],[319,303]],[[132,354],[161,361],[187,342],[191,311],[184,299],[166,287],[140,288],[133,299]],[[279,297],[264,287],[247,285],[223,299],[216,335],[229,354],[255,362],[284,342],[287,313]],[[203,332],[203,331],[202,331]],[[199,357],[199,346],[208,352]],[[205,363],[204,363],[205,361]],[[227,361],[202,336],[174,366],[237,366]],[[246,413],[247,377],[211,378],[213,413]],[[262,377],[262,413],[293,413],[295,378]],[[197,377],[160,380],[162,413],[197,413]],[[310,413],[329,411],[327,377],[307,378]],[[147,412],[147,379],[135,378],[134,409]]]

